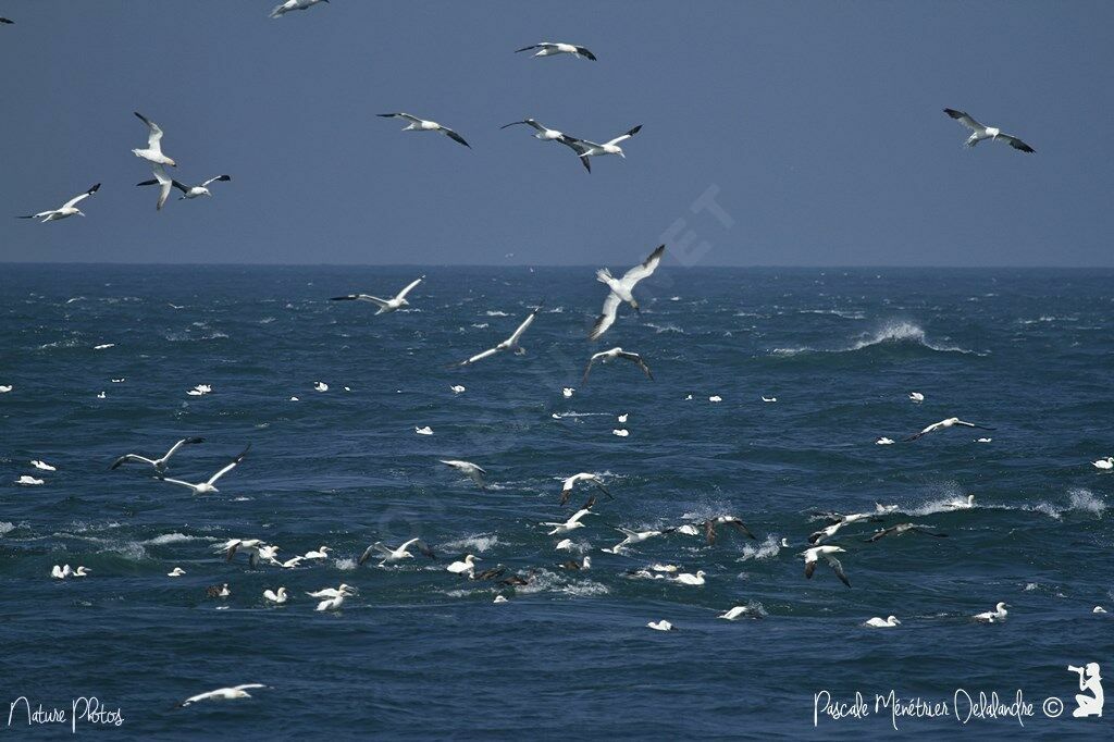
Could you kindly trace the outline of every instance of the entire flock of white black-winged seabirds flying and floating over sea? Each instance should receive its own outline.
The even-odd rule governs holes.
[[[328,3],[329,0],[286,0],[280,6],[275,7],[271,12],[271,18],[280,18],[289,12],[296,10],[307,10],[321,2]],[[11,20],[7,18],[0,18],[0,23],[10,25]],[[573,43],[565,42],[550,42],[544,41],[540,43],[530,45],[516,50],[517,52],[522,51],[534,51],[534,57],[550,57],[556,55],[568,55],[577,59],[586,59],[596,61],[597,57],[589,49],[583,46],[577,46]],[[1016,136],[1004,134],[1000,129],[996,127],[988,127],[970,115],[955,110],[951,108],[945,108],[945,113],[951,118],[959,121],[961,125],[971,130],[969,138],[966,140],[966,146],[974,147],[979,141],[991,140],[1001,141],[1008,144],[1010,147],[1018,149],[1024,153],[1033,153],[1034,149],[1025,141]],[[159,197],[156,205],[157,209],[162,209],[165,205],[169,193],[172,189],[178,189],[182,193],[180,199],[198,198],[202,196],[212,196],[208,187],[213,183],[228,182],[231,176],[218,175],[211,177],[198,185],[186,185],[177,179],[169,177],[166,173],[166,167],[177,167],[177,162],[166,155],[163,152],[163,129],[153,120],[146,116],[136,113],[135,114],[147,127],[147,146],[143,148],[133,149],[136,157],[145,160],[152,166],[154,178],[140,182],[139,186],[159,186]],[[379,114],[379,116],[384,118],[397,118],[407,123],[404,131],[431,131],[442,134],[446,137],[457,141],[465,147],[471,148],[468,141],[455,129],[443,126],[437,121],[422,119],[417,116],[412,116],[405,113],[390,113],[390,114]],[[543,141],[556,141],[565,145],[571,149],[577,158],[582,162],[584,167],[590,173],[592,165],[590,158],[599,157],[605,155],[615,155],[618,157],[625,157],[622,144],[629,139],[631,137],[638,134],[642,126],[635,126],[624,134],[616,136],[604,143],[596,143],[588,139],[582,139],[574,137],[557,129],[551,129],[544,124],[537,121],[532,118],[525,118],[518,121],[512,121],[502,126],[501,128],[509,128],[512,126],[527,126],[534,129],[534,137]],[[70,216],[85,216],[85,213],[78,208],[78,204],[82,203],[85,199],[91,197],[100,188],[100,184],[96,184],[88,188],[87,191],[78,194],[77,196],[70,198],[60,207],[49,211],[39,212],[37,214],[31,214],[23,216],[21,218],[35,218],[40,222],[55,222],[59,219],[65,219]],[[648,257],[641,264],[632,267],[622,277],[616,279],[608,269],[600,269],[596,273],[596,279],[607,286],[607,294],[604,299],[603,309],[598,319],[595,321],[590,331],[588,332],[588,339],[592,341],[602,338],[617,321],[620,307],[624,304],[631,306],[635,312],[639,312],[638,301],[635,297],[635,287],[639,281],[643,281],[651,276],[665,253],[665,245],[658,246],[654,250]],[[381,299],[379,296],[367,294],[367,293],[354,293],[346,294],[342,296],[333,296],[333,301],[362,301],[374,304],[378,310],[375,312],[379,314],[387,314],[395,312],[402,307],[410,306],[408,295],[424,280],[426,276],[420,276],[412,282],[410,282],[405,287],[403,287],[399,293],[390,299]],[[480,353],[477,353],[459,363],[453,364],[453,367],[468,367],[477,363],[481,360],[491,358],[496,354],[510,351],[517,354],[525,353],[525,349],[521,344],[522,335],[530,328],[531,323],[535,321],[538,311],[541,305],[538,304],[528,314],[525,320],[520,322],[517,329],[504,341],[499,342],[492,348],[489,348]],[[593,367],[598,363],[608,363],[609,361],[624,360],[628,361],[638,367],[642,372],[651,380],[654,379],[651,372],[649,365],[645,359],[635,352],[625,351],[622,348],[612,348],[606,351],[597,352],[590,355],[585,368],[583,383],[587,383],[588,374]],[[114,380],[115,381],[115,380]],[[123,380],[121,380],[123,381]],[[10,392],[11,387],[0,385],[0,392]],[[315,382],[315,389],[320,392],[328,391],[329,387],[324,382]],[[212,391],[211,387],[205,384],[198,384],[193,390],[189,390],[192,396],[201,396]],[[459,394],[465,391],[465,387],[461,384],[455,384],[451,388],[452,393]],[[571,388],[565,388],[563,390],[565,397],[571,397],[575,392]],[[711,397],[710,401],[720,401],[719,397]],[[915,403],[920,403],[924,401],[925,397],[920,392],[910,392],[909,399]],[[776,398],[762,398],[763,402],[776,402]],[[626,414],[619,416],[619,422],[626,422]],[[939,422],[932,423],[921,431],[913,433],[907,438],[905,441],[913,441],[929,433],[934,433],[941,430],[947,430],[952,427],[966,427],[966,428],[977,428],[980,430],[993,430],[986,426],[967,422],[960,420],[959,418],[948,418]],[[428,427],[416,428],[416,432],[419,435],[432,435],[432,430]],[[626,436],[628,431],[625,429],[616,429],[616,436]],[[980,439],[989,440],[989,439]],[[139,463],[149,469],[154,470],[155,479],[177,485],[190,490],[195,496],[212,495],[219,492],[216,488],[216,482],[228,472],[231,472],[236,466],[238,466],[246,457],[251,445],[248,445],[240,455],[233,457],[225,466],[218,469],[214,475],[207,479],[193,482],[183,479],[174,479],[166,476],[169,461],[172,457],[175,456],[183,447],[194,446],[204,442],[203,438],[187,437],[178,440],[167,450],[166,453],[158,458],[149,458],[139,453],[125,453],[116,459],[110,468],[119,469],[127,463]],[[877,440],[878,445],[892,445],[893,440],[890,438],[879,438]],[[477,487],[483,489],[487,487],[488,472],[477,463],[463,460],[449,460],[444,459],[440,461],[447,467],[452,468],[461,476],[469,478]],[[1106,457],[1098,459],[1093,462],[1094,467],[1103,470],[1114,469],[1114,457]],[[32,461],[32,466],[37,470],[53,471],[55,467],[46,463],[45,461],[36,460]],[[18,480],[17,484],[21,485],[40,485],[41,479],[37,479],[30,476],[23,476]],[[593,472],[579,472],[568,476],[563,479],[561,490],[559,496],[559,505],[564,506],[571,498],[574,491],[578,487],[590,486],[599,492],[606,495],[610,499],[615,499],[612,491],[605,486],[603,477]],[[589,516],[597,516],[595,510],[596,506],[596,495],[593,494],[588,500],[576,511],[565,520],[560,521],[545,521],[539,524],[540,527],[546,528],[546,535],[551,537],[559,537],[555,544],[555,549],[557,550],[569,550],[574,547],[573,541],[566,536],[573,531],[585,528],[588,524],[586,523]],[[951,509],[967,509],[974,507],[974,496],[969,496],[966,500],[957,500],[955,502],[948,504]],[[830,539],[834,538],[837,534],[843,531],[844,528],[852,526],[854,524],[867,524],[881,521],[888,517],[896,515],[896,506],[883,506],[878,505],[878,508],[873,512],[854,512],[854,514],[838,514],[838,512],[827,512],[827,514],[814,514],[814,517],[823,518],[825,525],[814,530],[807,539],[808,547],[799,554],[803,557],[804,562],[804,576],[807,578],[812,578],[815,574],[817,566],[823,563],[828,566],[831,572],[838,577],[847,587],[851,587],[850,578],[840,560],[840,555],[847,555],[848,550],[837,544],[828,543]],[[622,554],[631,549],[632,547],[639,546],[649,539],[664,538],[671,535],[681,535],[688,537],[700,537],[703,536],[709,545],[714,545],[717,541],[717,527],[726,526],[737,531],[742,537],[747,539],[756,539],[758,537],[752,533],[752,530],[743,523],[741,518],[734,515],[719,515],[714,517],[706,518],[703,523],[685,523],[672,527],[659,527],[657,529],[646,529],[646,530],[635,530],[622,526],[612,525],[609,528],[616,530],[623,535],[623,539],[609,548],[602,548],[600,551],[606,554]],[[929,526],[915,524],[915,523],[899,523],[891,526],[877,529],[872,535],[864,540],[868,544],[873,544],[880,541],[883,538],[897,537],[906,534],[918,534],[924,536],[931,536],[937,538],[946,537],[947,534],[938,533],[931,530]],[[788,539],[781,539],[780,546],[789,547],[790,543]],[[413,550],[411,550],[413,549]],[[330,556],[332,549],[322,545],[317,549],[310,550],[304,555],[293,556],[285,560],[278,558],[277,554],[280,547],[266,544],[257,538],[234,538],[226,543],[219,545],[216,549],[217,554],[223,554],[225,560],[232,562],[237,554],[246,555],[248,559],[250,567],[258,568],[261,564],[276,566],[283,569],[292,569],[302,566],[304,563],[320,562],[324,560]],[[372,558],[379,559],[380,566],[392,565],[395,563],[405,562],[409,559],[414,559],[414,551],[419,555],[428,557],[430,559],[436,559],[437,555],[433,550],[420,538],[411,538],[405,543],[399,545],[398,547],[391,547],[382,541],[375,541],[367,547],[367,549],[359,556],[356,563],[359,565],[364,565]],[[844,557],[846,558],[846,557]],[[531,578],[535,576],[536,570],[529,570],[526,573],[512,573],[508,574],[507,569],[501,566],[491,567],[482,572],[477,572],[479,557],[473,554],[467,554],[461,559],[455,560],[449,564],[446,569],[447,572],[460,575],[466,579],[483,582],[489,580],[499,586],[499,588],[509,588],[514,590],[516,587],[528,585]],[[584,556],[580,560],[569,559],[565,563],[558,565],[566,569],[574,570],[587,570],[592,568],[592,557]],[[51,570],[51,577],[60,580],[74,578],[74,577],[85,577],[89,574],[89,570],[84,566],[78,566],[76,569],[71,568],[69,564],[55,565]],[[182,567],[175,567],[173,570],[167,573],[167,577],[180,577],[185,575],[185,570]],[[681,567],[672,564],[653,564],[646,568],[634,569],[627,573],[631,578],[649,578],[649,579],[668,579],[677,585],[688,586],[688,587],[700,587],[706,584],[707,575],[704,570],[697,569],[695,573],[682,572]],[[315,611],[319,612],[335,612],[340,609],[344,601],[356,594],[359,590],[348,584],[341,584],[338,587],[326,587],[319,590],[306,593],[306,595],[314,601]],[[508,601],[506,590],[500,592],[496,598],[496,603],[506,603]],[[231,588],[228,584],[224,583],[221,585],[214,585],[207,589],[207,595],[214,598],[225,598],[231,595]],[[267,588],[263,593],[263,598],[267,604],[282,606],[286,605],[291,601],[291,595],[289,594],[286,587],[280,586],[277,589]],[[971,618],[980,623],[1000,623],[1007,616],[1007,605],[1005,603],[998,603],[994,611],[987,613],[980,613],[974,615]],[[1096,612],[1101,608],[1096,608]],[[761,613],[755,612],[750,606],[734,606],[723,614],[719,615],[719,618],[726,621],[736,621],[743,617],[761,617]],[[892,628],[900,625],[901,622],[893,615],[887,618],[873,617],[867,621],[863,625],[868,627],[876,628]],[[662,619],[657,622],[649,622],[647,624],[649,628],[657,631],[676,631],[668,621]],[[189,699],[186,699],[180,703],[182,706],[188,706],[194,703],[211,700],[234,700],[234,699],[248,699],[251,694],[247,692],[250,690],[263,689],[265,685],[251,683],[244,685],[236,685],[232,687],[217,689],[215,691],[209,691],[206,693],[201,693]]]

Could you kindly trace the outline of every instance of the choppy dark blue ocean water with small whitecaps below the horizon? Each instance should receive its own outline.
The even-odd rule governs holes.
[[[1066,667],[1114,671],[1114,614],[1092,613],[1114,611],[1114,476],[1089,463],[1114,455],[1114,272],[664,264],[639,286],[642,315],[624,310],[598,344],[643,353],[656,381],[610,365],[585,385],[585,333],[604,296],[592,269],[0,271],[0,384],[13,387],[0,394],[0,709],[27,696],[69,710],[96,695],[124,714],[109,734],[141,739],[882,738],[885,711],[813,728],[814,694],[860,691],[873,712],[873,694],[890,690],[950,703],[957,689],[1009,702],[1020,689],[1034,703],[1024,728],[899,725],[1108,739],[1114,710],[1071,719]],[[410,311],[326,301],[392,294],[420,273]],[[527,354],[446,368],[540,300]],[[330,390],[315,392],[317,380]],[[187,396],[198,383],[213,392]],[[467,391],[453,394],[458,383]],[[874,445],[950,416],[996,430]],[[416,435],[422,426],[433,435]],[[180,451],[169,476],[202,479],[252,443],[219,494],[108,470],[187,435],[206,442]],[[440,458],[479,463],[491,487]],[[571,512],[557,504],[559,478],[577,471],[604,475],[615,495],[573,534],[593,558],[580,574],[556,566],[569,555],[537,525]],[[46,484],[16,486],[21,475]],[[974,509],[942,505],[967,495]],[[822,525],[810,514],[876,501],[903,511],[885,525],[949,536],[864,544],[881,524],[849,527],[834,543],[853,587],[823,566],[807,580],[797,554]],[[600,551],[620,538],[613,526],[726,512],[758,540],[673,534]],[[439,562],[355,567],[372,541],[411,536]],[[213,554],[232,537],[284,557],[325,544],[334,558],[252,570]],[[443,570],[465,553],[538,572],[495,605],[496,586]],[[655,562],[707,582],[626,576]],[[51,579],[62,563],[91,576]],[[174,566],[187,574],[166,577]],[[359,595],[314,612],[304,592],[341,582]],[[206,598],[219,583],[231,597]],[[291,602],[267,607],[262,592],[280,585]],[[969,619],[998,601],[1013,606],[1005,623]],[[716,618],[734,605],[764,617]],[[888,614],[902,625],[861,626]],[[646,627],[661,618],[680,631]],[[272,687],[175,709],[253,682]],[[1065,701],[1063,717],[1043,713],[1048,696]]]

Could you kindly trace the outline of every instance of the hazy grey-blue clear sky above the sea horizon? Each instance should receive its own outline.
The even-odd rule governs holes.
[[[102,183],[0,218],[0,262],[1114,265],[1111,2],[273,4],[0,0],[0,215]],[[135,110],[232,182],[156,212]],[[643,129],[589,175],[526,117]]]

